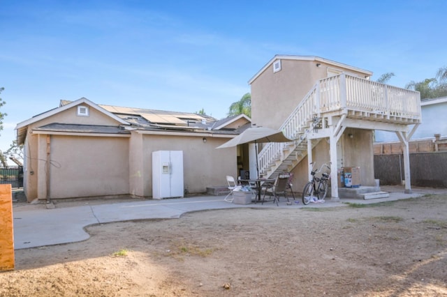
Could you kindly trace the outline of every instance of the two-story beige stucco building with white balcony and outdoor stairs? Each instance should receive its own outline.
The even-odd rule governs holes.
[[[341,167],[360,167],[361,185],[374,185],[374,130],[399,137],[409,169],[408,141],[421,121],[420,95],[372,82],[371,76],[369,70],[318,56],[277,55],[268,61],[249,80],[251,121],[295,141],[265,144],[258,152],[261,174],[293,172],[294,188],[300,190],[310,162],[331,162],[331,195],[337,201],[334,181]],[[410,178],[405,180],[410,192]]]

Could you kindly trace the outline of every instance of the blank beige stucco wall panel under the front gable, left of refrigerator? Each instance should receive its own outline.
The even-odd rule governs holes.
[[[50,198],[129,194],[129,139],[51,137]]]

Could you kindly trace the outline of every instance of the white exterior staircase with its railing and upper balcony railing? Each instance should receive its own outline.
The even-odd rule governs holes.
[[[341,119],[338,129],[344,120],[351,125],[369,122],[370,127],[413,125],[420,123],[420,98],[415,91],[344,73],[320,79],[279,128],[293,142],[263,146],[258,154],[260,175],[276,178],[281,172],[290,172],[306,157],[309,141],[314,148],[322,137],[328,137],[330,116]],[[321,138],[317,138],[317,130],[326,132],[318,133]]]

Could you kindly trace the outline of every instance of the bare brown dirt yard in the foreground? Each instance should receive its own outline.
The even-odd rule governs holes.
[[[15,252],[0,296],[447,296],[447,195],[91,226]]]

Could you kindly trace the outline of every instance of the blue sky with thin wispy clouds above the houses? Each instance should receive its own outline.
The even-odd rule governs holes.
[[[81,97],[217,119],[275,54],[393,72],[447,66],[447,1],[0,1],[0,149],[15,125]]]

